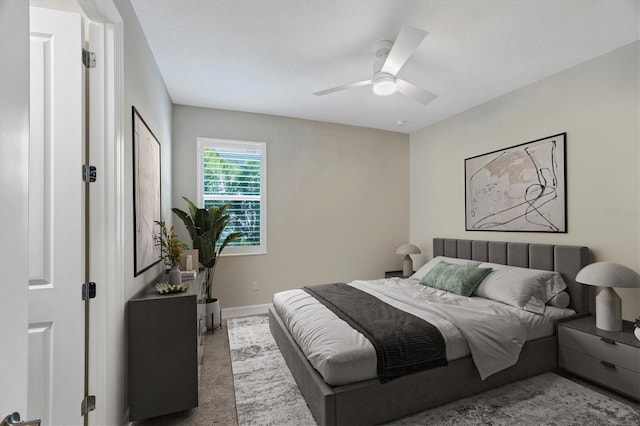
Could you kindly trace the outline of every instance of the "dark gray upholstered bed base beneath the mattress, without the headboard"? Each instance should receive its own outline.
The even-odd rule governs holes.
[[[269,327],[319,425],[373,425],[437,407],[557,366],[555,336],[528,342],[518,362],[481,380],[471,357],[381,384],[367,380],[331,387],[307,361],[273,307]]]

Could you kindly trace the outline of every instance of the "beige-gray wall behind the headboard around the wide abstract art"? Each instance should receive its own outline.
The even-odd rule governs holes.
[[[632,43],[411,134],[411,240],[585,245],[594,261],[640,269],[639,52]],[[568,233],[466,232],[464,159],[567,132]],[[640,315],[640,290],[618,289]]]

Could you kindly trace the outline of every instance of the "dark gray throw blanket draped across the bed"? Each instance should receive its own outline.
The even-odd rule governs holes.
[[[369,339],[380,382],[447,365],[444,338],[433,324],[347,284],[303,290]]]

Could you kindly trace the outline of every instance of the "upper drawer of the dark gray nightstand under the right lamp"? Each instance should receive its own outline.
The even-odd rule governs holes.
[[[640,373],[640,350],[620,342],[607,343],[600,336],[558,327],[558,345]]]

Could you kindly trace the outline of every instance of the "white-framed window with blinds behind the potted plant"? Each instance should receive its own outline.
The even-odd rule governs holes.
[[[244,235],[223,254],[267,252],[267,147],[262,142],[198,138],[198,205],[229,203],[233,220],[225,229]]]

